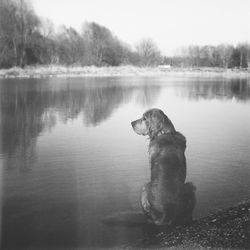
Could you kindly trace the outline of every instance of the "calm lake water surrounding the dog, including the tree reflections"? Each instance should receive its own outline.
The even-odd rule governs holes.
[[[194,217],[250,196],[250,83],[170,77],[0,80],[3,248],[100,248],[140,227],[105,216],[140,211],[145,137],[130,125],[157,107],[187,138]]]

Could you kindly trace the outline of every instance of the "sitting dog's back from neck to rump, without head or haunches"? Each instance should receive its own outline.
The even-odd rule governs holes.
[[[178,132],[158,136],[149,145],[151,182],[148,198],[156,224],[171,224],[181,212],[186,179],[185,148],[185,137]]]

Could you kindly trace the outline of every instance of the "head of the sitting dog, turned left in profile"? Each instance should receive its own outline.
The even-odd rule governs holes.
[[[160,109],[146,111],[131,125],[138,135],[148,135],[151,140],[158,135],[175,132],[172,122]]]

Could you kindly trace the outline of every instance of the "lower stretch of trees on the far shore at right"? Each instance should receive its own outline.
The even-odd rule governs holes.
[[[248,63],[250,63],[250,44],[189,46],[180,49],[173,57],[165,57],[164,63],[175,67],[244,69],[248,68]]]

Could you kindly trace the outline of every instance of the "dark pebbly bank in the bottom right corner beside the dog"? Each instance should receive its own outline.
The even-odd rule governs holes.
[[[220,210],[178,226],[162,230],[127,249],[250,249],[250,201]]]

